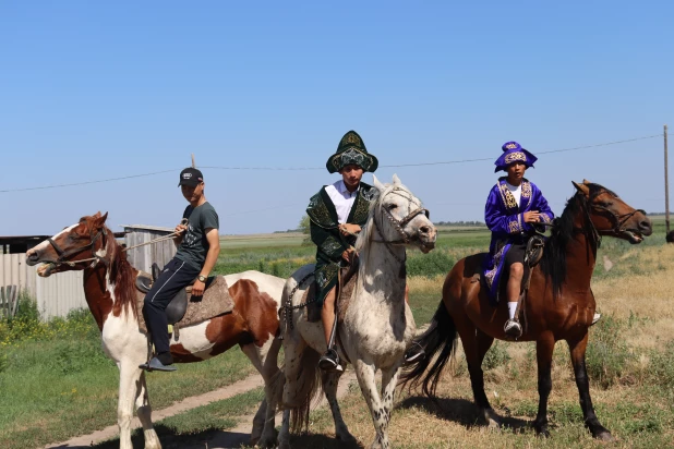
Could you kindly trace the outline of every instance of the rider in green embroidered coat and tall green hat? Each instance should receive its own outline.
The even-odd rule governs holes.
[[[360,135],[349,131],[339,141],[337,153],[326,163],[327,171],[339,172],[341,179],[332,185],[324,185],[311,197],[306,208],[311,240],[317,246],[314,271],[316,301],[323,303],[321,319],[328,344],[320,361],[323,369],[341,368],[337,351],[330,347],[338,272],[340,267],[352,263],[356,255],[354,234],[365,225],[370,204],[378,193],[373,186],[361,182],[361,178],[365,171],[374,172],[377,165],[377,158],[368,153]]]

